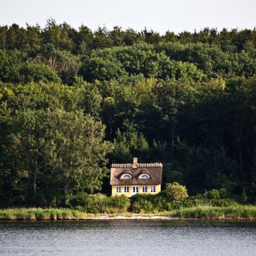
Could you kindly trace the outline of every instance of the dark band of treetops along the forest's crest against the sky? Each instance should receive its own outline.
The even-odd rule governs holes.
[[[112,48],[114,46],[133,46],[146,42],[147,44],[159,44],[162,42],[180,42],[181,44],[214,44],[224,52],[247,52],[254,50],[255,28],[253,30],[223,28],[218,31],[216,28],[204,28],[199,32],[181,32],[175,34],[169,30],[160,35],[153,30],[137,32],[132,28],[122,30],[120,26],[114,26],[112,30],[99,27],[92,31],[85,25],[78,30],[72,28],[66,22],[57,24],[54,19],[48,19],[46,26],[39,25],[26,28],[18,24],[12,26],[0,26],[0,48],[5,50],[36,50],[42,44],[54,44],[60,50],[67,50],[73,54],[84,54],[88,50],[99,48]]]

